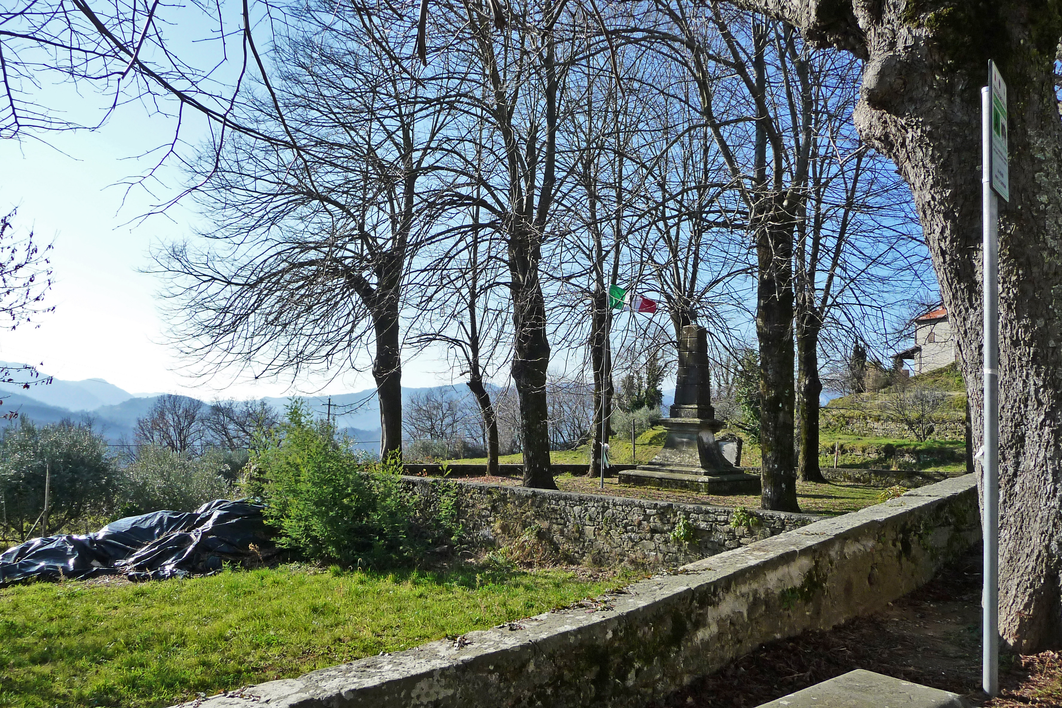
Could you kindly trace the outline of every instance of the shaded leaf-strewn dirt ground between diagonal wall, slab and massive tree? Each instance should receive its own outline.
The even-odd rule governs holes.
[[[854,669],[954,691],[975,706],[1062,706],[1055,652],[1003,653],[1000,696],[987,702],[980,692],[980,549],[972,551],[881,612],[765,644],[658,706],[751,708]]]

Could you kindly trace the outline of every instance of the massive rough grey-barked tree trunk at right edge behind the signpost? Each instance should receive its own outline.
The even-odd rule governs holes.
[[[999,628],[1017,651],[1062,645],[1062,121],[1058,2],[740,0],[867,57],[855,121],[911,186],[981,396],[980,87],[1008,84],[1010,194],[999,224]]]

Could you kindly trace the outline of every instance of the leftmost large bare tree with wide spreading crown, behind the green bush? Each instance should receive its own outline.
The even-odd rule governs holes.
[[[372,342],[387,455],[401,449],[404,284],[431,239],[424,205],[453,105],[445,82],[395,67],[410,41],[400,18],[306,10],[303,23],[277,49],[271,99],[245,110],[312,155],[243,139],[206,151],[199,195],[218,245],[174,244],[157,261],[174,340],[201,374],[336,375]]]

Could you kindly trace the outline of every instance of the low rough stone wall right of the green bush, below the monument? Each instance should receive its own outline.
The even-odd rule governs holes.
[[[440,488],[458,495],[461,520],[474,542],[498,546],[530,530],[563,559],[615,566],[678,566],[748,546],[818,521],[811,514],[749,511],[749,523],[731,525],[735,510],[646,499],[526,489],[500,484],[404,478],[431,503]],[[444,485],[441,487],[440,485]],[[675,530],[688,524],[685,538]],[[680,530],[681,531],[681,530]]]

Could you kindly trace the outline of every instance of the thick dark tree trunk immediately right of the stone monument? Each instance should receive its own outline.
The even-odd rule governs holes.
[[[756,237],[760,505],[775,512],[799,512],[793,448],[792,229],[770,218],[756,230]]]

